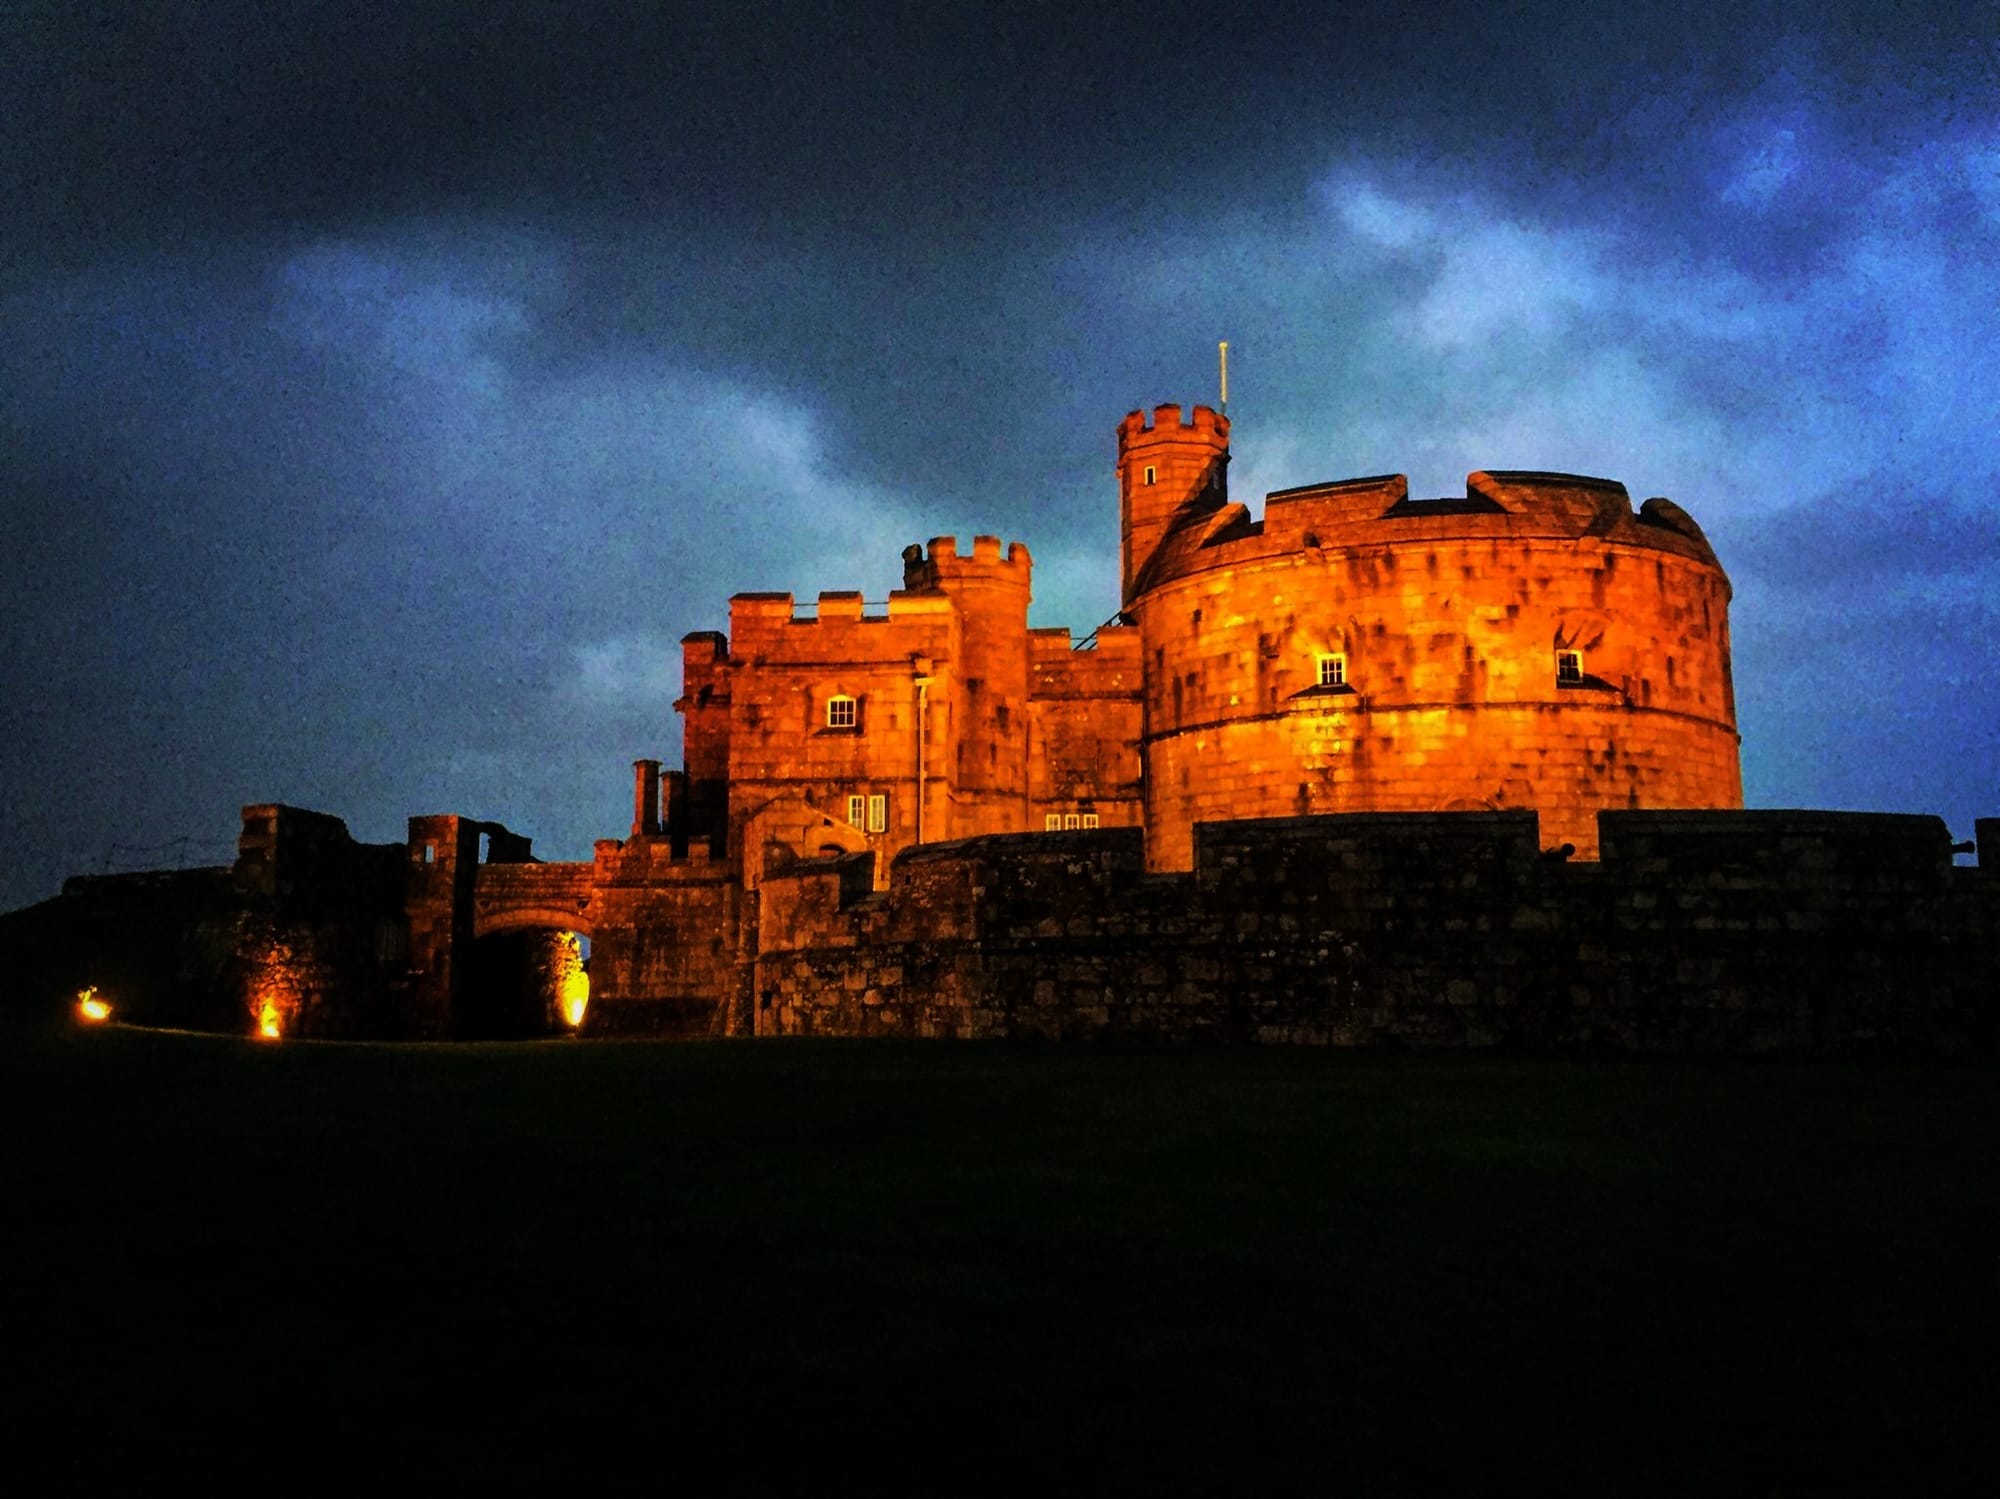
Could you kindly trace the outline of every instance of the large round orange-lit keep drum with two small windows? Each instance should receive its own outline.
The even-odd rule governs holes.
[[[1740,805],[1728,600],[1684,512],[1604,480],[1356,480],[1198,518],[1130,610],[1148,859],[1190,867],[1202,821],[1478,807],[1532,807],[1588,859],[1600,809]]]

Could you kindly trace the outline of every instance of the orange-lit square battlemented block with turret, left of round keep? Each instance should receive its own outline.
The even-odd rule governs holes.
[[[904,554],[880,606],[732,598],[728,638],[682,644],[670,835],[728,849],[754,885],[772,857],[874,849],[886,877],[912,843],[1138,825],[1138,632],[1074,650],[1068,630],[1030,630],[1030,566],[1018,542],[960,556],[946,536]]]

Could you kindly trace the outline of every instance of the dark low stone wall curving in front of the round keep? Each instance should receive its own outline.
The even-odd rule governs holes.
[[[758,1033],[1994,1055],[2000,871],[1936,817],[1620,811],[1210,823],[856,855],[768,879]],[[858,867],[850,867],[858,865]]]

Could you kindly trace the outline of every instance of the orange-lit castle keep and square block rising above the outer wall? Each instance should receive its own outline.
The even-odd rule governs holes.
[[[754,885],[774,849],[866,847],[886,881],[912,843],[1052,827],[1138,825],[1186,869],[1196,823],[1330,811],[1534,809],[1590,859],[1602,809],[1742,803],[1730,586],[1678,506],[1482,472],[1252,520],[1228,434],[1206,406],[1120,424],[1124,606],[1090,650],[1028,630],[1028,550],[988,536],[910,548],[882,606],[738,594],[684,642],[666,827]]]

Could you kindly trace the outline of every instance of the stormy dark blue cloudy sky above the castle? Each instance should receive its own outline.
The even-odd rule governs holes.
[[[1750,805],[2000,815],[2000,6],[1090,10],[0,6],[0,907],[244,801],[588,857],[682,634],[914,540],[1084,634],[1222,338],[1252,510],[1670,496]]]

